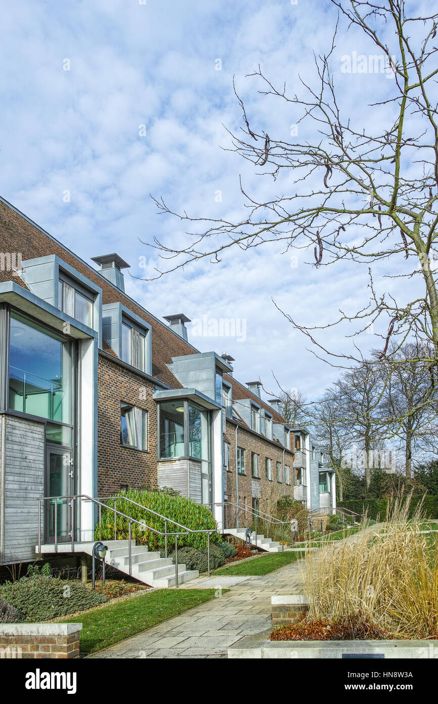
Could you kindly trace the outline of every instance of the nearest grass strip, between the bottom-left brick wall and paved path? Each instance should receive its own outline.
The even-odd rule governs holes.
[[[157,589],[56,622],[82,623],[81,655],[88,655],[212,598],[214,589]]]

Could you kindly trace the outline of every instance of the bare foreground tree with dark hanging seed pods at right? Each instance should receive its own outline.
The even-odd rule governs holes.
[[[203,258],[217,263],[232,248],[246,251],[269,242],[288,252],[295,248],[314,250],[316,267],[339,260],[369,266],[387,260],[395,266],[405,256],[412,261],[406,276],[420,278],[423,297],[398,303],[389,294],[378,294],[370,268],[366,306],[355,315],[340,311],[331,325],[357,323],[359,329],[354,334],[358,334],[383,317],[387,332],[378,337],[381,358],[387,359],[406,339],[415,338],[430,370],[430,386],[423,400],[427,404],[438,381],[434,272],[438,234],[438,49],[434,38],[438,13],[417,17],[413,8],[409,14],[404,0],[331,1],[338,8],[338,22],[359,28],[394,75],[394,80],[387,82],[392,85],[387,99],[374,106],[363,105],[363,113],[380,108],[380,118],[383,114],[385,118],[368,120],[372,126],[364,128],[359,121],[363,118],[354,120],[340,108],[330,69],[337,27],[328,54],[315,58],[316,85],[301,80],[299,96],[288,92],[285,84],[277,88],[259,67],[251,74],[261,82],[259,93],[265,99],[285,101],[294,111],[301,108],[297,122],[310,122],[307,132],[314,134],[314,140],[285,142],[276,138],[270,126],[256,127],[252,122],[257,118],[247,115],[235,89],[243,127],[238,134],[230,133],[231,151],[254,164],[260,177],[278,179],[278,184],[283,175],[290,178],[292,172],[292,192],[289,189],[285,195],[259,202],[240,181],[246,212],[239,221],[174,213],[164,199],[155,199],[160,213],[191,222],[194,232],[187,232],[186,241],[181,236],[174,248],[158,239],[148,244],[157,248],[164,260],[157,277]],[[321,328],[303,327],[282,313],[323,350],[314,332]],[[390,347],[394,340],[397,344]],[[332,353],[323,350],[323,354]],[[350,364],[362,360],[360,352],[357,357],[352,353],[341,357]]]

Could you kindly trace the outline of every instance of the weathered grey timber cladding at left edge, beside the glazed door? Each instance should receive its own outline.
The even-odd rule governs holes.
[[[44,423],[1,415],[0,561],[32,560],[44,496]]]

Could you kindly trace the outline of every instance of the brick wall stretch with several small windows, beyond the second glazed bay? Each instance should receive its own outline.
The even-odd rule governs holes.
[[[277,482],[276,463],[281,462],[282,479],[283,477],[283,447],[275,442],[266,440],[263,436],[259,436],[250,430],[243,427],[238,427],[237,432],[238,447],[245,449],[245,474],[238,474],[238,498],[239,505],[243,506],[246,499],[246,505],[251,508],[252,497],[260,498],[259,508],[266,511],[270,515],[276,515],[276,504],[279,498],[283,496],[283,482]],[[236,423],[227,420],[225,441],[231,446],[231,472],[227,472],[227,484],[225,494],[228,500],[236,503]],[[259,479],[254,479],[251,474],[251,453],[255,452],[259,455]],[[272,481],[266,479],[265,473],[265,458],[272,460]],[[290,467],[290,482],[292,482],[292,452],[285,450],[285,465]],[[293,496],[292,484],[284,485],[284,493],[286,496]]]

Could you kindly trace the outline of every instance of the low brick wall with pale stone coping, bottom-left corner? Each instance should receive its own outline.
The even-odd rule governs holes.
[[[1,623],[0,658],[79,658],[82,623]]]

